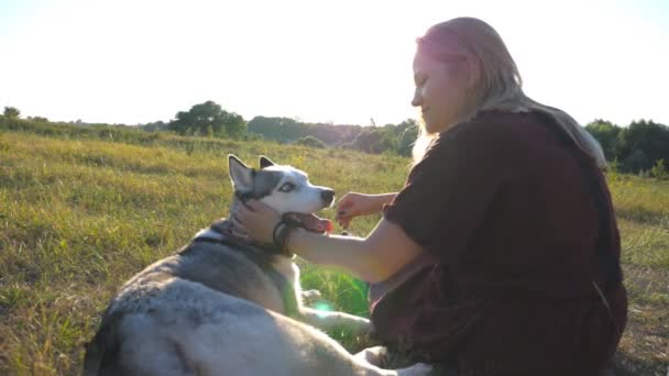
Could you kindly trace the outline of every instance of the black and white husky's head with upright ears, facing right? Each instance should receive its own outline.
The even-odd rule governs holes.
[[[314,186],[304,172],[276,165],[265,156],[260,157],[260,169],[248,167],[232,154],[228,166],[237,197],[260,200],[282,214],[315,213],[334,201],[332,189]]]

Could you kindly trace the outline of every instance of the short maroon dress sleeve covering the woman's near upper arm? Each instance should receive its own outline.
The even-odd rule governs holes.
[[[489,129],[467,124],[441,134],[383,208],[385,220],[445,262],[472,240],[507,174],[504,140]]]

